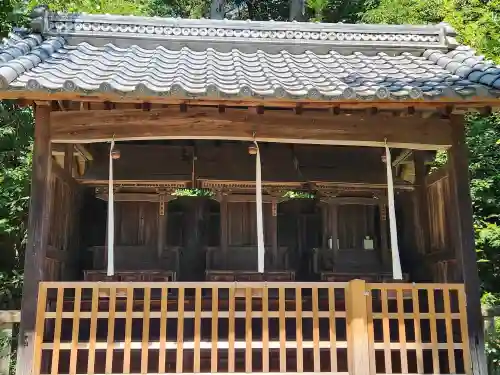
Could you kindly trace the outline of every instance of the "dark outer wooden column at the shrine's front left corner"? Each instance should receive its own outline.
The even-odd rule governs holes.
[[[45,277],[45,255],[49,240],[52,155],[50,146],[50,102],[38,102],[35,110],[35,143],[31,175],[28,241],[24,260],[23,300],[18,351],[18,375],[31,374],[38,284]],[[40,349],[41,350],[41,349]]]

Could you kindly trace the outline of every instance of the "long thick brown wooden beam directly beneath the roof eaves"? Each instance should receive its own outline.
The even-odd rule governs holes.
[[[380,119],[378,121],[377,119]],[[143,111],[90,110],[54,112],[52,140],[64,143],[138,139],[253,139],[281,143],[355,145],[393,148],[443,149],[451,145],[450,124],[437,118],[394,116],[332,116],[310,112],[270,110],[254,114],[218,108],[179,111],[176,108]]]

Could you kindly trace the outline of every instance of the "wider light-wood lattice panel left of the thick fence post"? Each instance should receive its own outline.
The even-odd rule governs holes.
[[[42,283],[34,374],[347,374],[346,285]]]

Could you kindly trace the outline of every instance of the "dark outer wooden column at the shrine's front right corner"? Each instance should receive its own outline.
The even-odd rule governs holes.
[[[453,214],[453,235],[456,238],[456,254],[465,284],[467,321],[472,371],[486,375],[484,332],[481,315],[481,291],[477,271],[474,244],[472,203],[469,189],[469,165],[463,116],[452,115],[452,147],[448,151],[450,193]],[[467,371],[467,369],[466,369]]]

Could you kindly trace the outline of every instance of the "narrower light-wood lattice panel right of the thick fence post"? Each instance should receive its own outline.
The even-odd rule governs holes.
[[[470,374],[457,284],[367,284],[372,374]]]

